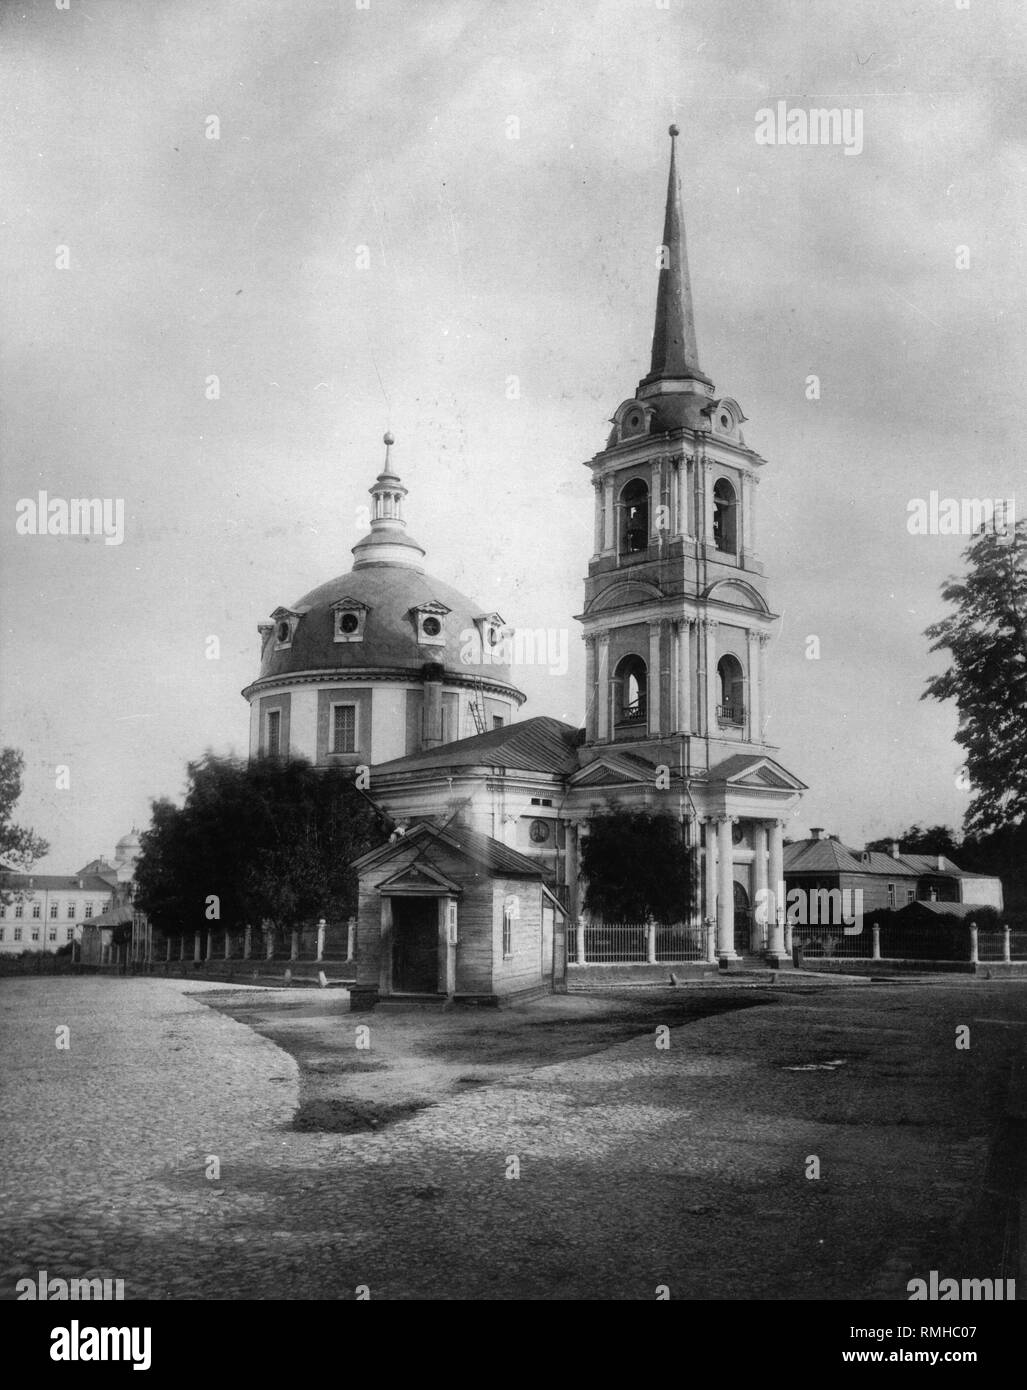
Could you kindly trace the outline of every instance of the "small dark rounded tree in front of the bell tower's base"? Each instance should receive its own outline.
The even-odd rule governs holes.
[[[589,820],[584,906],[606,922],[673,923],[692,906],[692,856],[671,816],[616,810]]]

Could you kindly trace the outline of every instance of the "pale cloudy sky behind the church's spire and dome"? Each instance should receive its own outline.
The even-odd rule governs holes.
[[[428,571],[570,632],[523,716],[584,720],[582,464],[649,367],[670,121],[700,361],[767,460],[789,833],[962,821],[920,695],[967,539],[907,514],[1027,507],[1019,0],[64,6],[0,4],[0,741],[42,869],[245,753],[257,623],[350,567],[386,428]],[[757,143],[778,101],[862,150]],[[19,534],[40,489],[122,542]]]

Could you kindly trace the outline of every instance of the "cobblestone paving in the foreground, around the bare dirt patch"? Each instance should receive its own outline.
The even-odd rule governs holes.
[[[214,1005],[257,1001],[271,1030],[275,1011],[320,1011],[327,1072],[361,1022],[368,1070],[443,1016],[411,1037],[342,991],[4,981],[3,1297],[46,1269],[124,1279],[128,1298],[905,1298],[966,1248],[1024,998],[970,980],[762,990],[666,1049],[646,1030],[520,1058],[339,1134],[292,1127],[297,1062]]]

